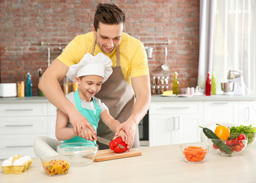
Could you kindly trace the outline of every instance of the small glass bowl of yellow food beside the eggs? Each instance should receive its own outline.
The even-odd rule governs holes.
[[[71,159],[66,156],[41,157],[44,172],[47,175],[66,175],[71,167]]]

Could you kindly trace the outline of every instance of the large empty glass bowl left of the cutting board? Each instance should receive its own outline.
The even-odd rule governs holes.
[[[94,161],[98,151],[95,143],[64,143],[57,146],[60,156],[72,159],[71,166],[85,166]]]

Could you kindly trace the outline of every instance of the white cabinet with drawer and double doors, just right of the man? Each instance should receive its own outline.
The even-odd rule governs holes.
[[[199,125],[202,102],[151,102],[149,146],[198,142]]]

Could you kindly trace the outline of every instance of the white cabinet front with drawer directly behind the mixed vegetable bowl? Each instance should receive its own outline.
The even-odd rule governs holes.
[[[238,124],[238,101],[204,101],[204,124]]]

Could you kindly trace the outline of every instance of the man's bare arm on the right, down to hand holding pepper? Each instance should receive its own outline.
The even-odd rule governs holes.
[[[128,136],[128,149],[133,146],[134,135],[139,121],[143,119],[146,111],[148,111],[149,109],[149,104],[151,100],[149,75],[134,77],[132,79],[132,86],[133,91],[136,95],[136,101],[133,105],[133,112],[128,120],[126,120],[125,122],[123,122],[123,124],[120,124],[120,126],[117,127],[117,132],[121,129],[126,132]]]

